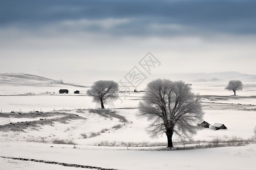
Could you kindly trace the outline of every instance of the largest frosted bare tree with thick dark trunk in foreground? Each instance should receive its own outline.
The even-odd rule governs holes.
[[[168,146],[172,145],[172,135],[191,138],[202,121],[200,96],[191,92],[189,84],[182,81],[156,79],[147,84],[143,102],[139,103],[139,116],[152,121],[148,130],[151,137],[165,133]]]

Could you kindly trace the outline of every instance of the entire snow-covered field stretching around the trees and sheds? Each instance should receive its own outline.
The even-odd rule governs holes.
[[[29,83],[28,83],[29,84]],[[247,140],[253,136],[256,125],[256,83],[243,83],[244,90],[224,90],[227,83],[193,83],[193,92],[204,95],[202,105],[204,120],[213,125],[222,123],[228,129],[202,129],[194,141],[222,141],[230,139]],[[60,88],[67,88],[71,94],[57,94]],[[79,90],[81,94],[73,94]],[[126,147],[126,145],[158,145],[167,142],[163,135],[150,138],[146,127],[150,122],[138,118],[138,103],[142,93],[120,94],[121,99],[106,104],[127,122],[118,118],[104,117],[90,112],[100,105],[92,103],[86,95],[86,87],[71,85],[35,86],[0,84],[0,109],[2,112],[65,112],[77,114],[85,119],[69,120],[68,124],[55,122],[40,125],[24,131],[1,131],[0,156],[28,158],[90,165],[114,169],[255,169],[256,144],[239,147],[207,148],[199,150],[166,151],[165,146]],[[51,92],[46,94],[46,92]],[[53,94],[55,92],[55,94]],[[24,95],[24,94],[35,95]],[[78,110],[77,110],[78,109]],[[57,116],[55,116],[57,117]],[[53,118],[53,117],[51,117]],[[10,122],[25,122],[39,118],[0,118],[0,125]],[[118,128],[114,128],[117,127]],[[96,134],[95,137],[91,137]],[[86,138],[85,138],[86,136]],[[71,141],[73,145],[53,144],[55,140]],[[174,141],[178,139],[174,136]],[[99,146],[100,145],[100,146]],[[103,146],[107,145],[107,146]],[[109,145],[120,145],[112,146]],[[175,144],[176,147],[183,147]],[[53,146],[53,147],[51,147]],[[159,149],[161,151],[159,151]],[[0,169],[78,169],[61,165],[26,162],[0,157]]]

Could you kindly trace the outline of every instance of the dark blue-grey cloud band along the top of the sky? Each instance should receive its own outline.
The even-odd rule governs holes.
[[[1,27],[40,28],[67,20],[130,19],[106,29],[91,24],[89,32],[115,35],[185,35],[256,33],[255,1],[2,1]],[[73,29],[76,23],[66,29]]]

